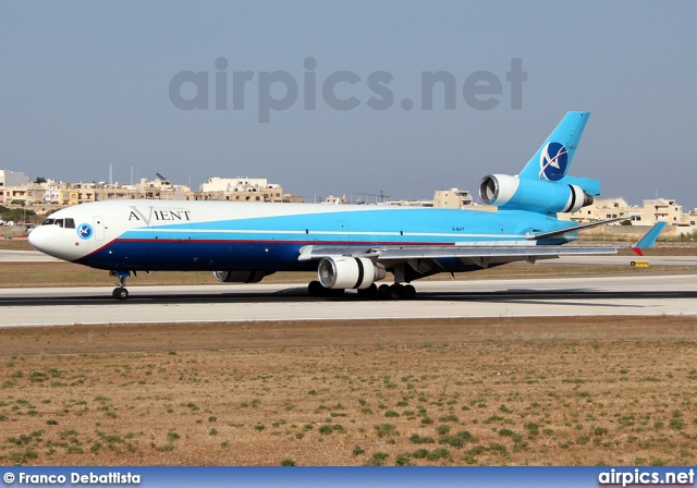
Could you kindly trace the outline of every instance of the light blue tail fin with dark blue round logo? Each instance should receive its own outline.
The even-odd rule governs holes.
[[[560,181],[566,175],[590,112],[568,112],[518,173],[524,180]]]

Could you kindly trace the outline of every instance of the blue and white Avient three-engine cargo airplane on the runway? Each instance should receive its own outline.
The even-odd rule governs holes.
[[[411,300],[411,284],[560,256],[615,254],[616,246],[564,245],[579,224],[560,218],[592,203],[600,182],[567,173],[589,112],[568,112],[516,175],[489,174],[479,196],[496,211],[366,205],[115,199],[50,215],[29,234],[37,249],[118,277],[129,297],[137,271],[213,271],[224,283],[256,283],[277,271],[317,271],[314,296]],[[665,222],[633,248],[651,247]],[[376,282],[387,273],[392,284]]]

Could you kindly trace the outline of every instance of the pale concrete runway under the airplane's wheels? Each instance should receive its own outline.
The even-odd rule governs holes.
[[[594,315],[697,315],[697,274],[421,281],[414,301],[316,298],[305,284],[4,289],[0,327]]]

